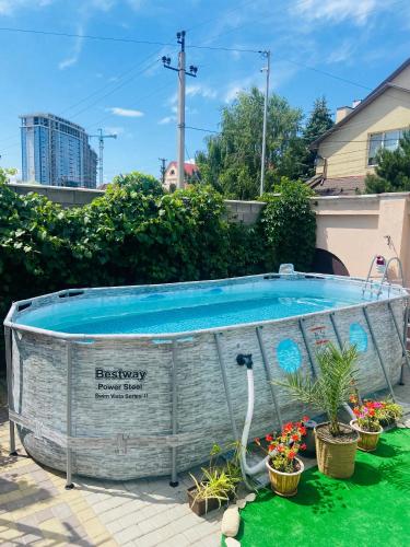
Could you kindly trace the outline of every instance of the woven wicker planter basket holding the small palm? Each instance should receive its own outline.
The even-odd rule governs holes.
[[[332,440],[321,433],[323,428],[328,426],[319,423],[315,428],[316,457],[319,472],[332,478],[349,478],[354,473],[354,458],[358,449],[359,433],[350,426],[340,423],[343,431],[355,432],[351,441]]]

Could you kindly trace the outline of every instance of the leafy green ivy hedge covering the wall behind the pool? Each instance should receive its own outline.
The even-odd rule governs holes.
[[[4,175],[0,173],[0,179]],[[69,287],[162,283],[308,269],[315,220],[301,183],[269,198],[254,226],[229,223],[223,198],[197,186],[150,193],[117,182],[63,209],[0,181],[0,316],[12,301]]]

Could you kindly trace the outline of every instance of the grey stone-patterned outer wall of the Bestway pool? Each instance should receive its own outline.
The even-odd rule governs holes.
[[[405,300],[395,300],[393,309],[403,326]],[[387,302],[367,306],[378,345],[393,384],[402,363]],[[359,388],[368,394],[384,388],[386,382],[364,319],[363,309],[337,310],[335,318],[343,342],[349,328],[360,324],[367,334],[367,350],[359,358]],[[313,352],[320,341],[337,342],[329,313],[304,319]],[[318,329],[318,327],[320,327]],[[319,339],[317,331],[320,333]],[[316,336],[315,336],[316,333]],[[219,335],[222,358],[236,427],[242,432],[247,406],[246,369],[236,364],[237,353],[251,353],[255,371],[255,414],[250,439],[279,428],[254,326],[237,326]],[[261,329],[269,369],[281,379],[277,346],[291,338],[302,354],[301,370],[311,374],[298,318],[267,324]],[[216,352],[215,335],[196,334],[176,342],[177,434],[172,435],[172,368],[169,340],[95,339],[72,344],[72,437],[73,472],[109,479],[132,479],[171,473],[172,449],[177,446],[178,470],[208,459],[213,443],[234,441],[226,395]],[[66,468],[67,445],[67,357],[68,342],[47,335],[14,331],[12,341],[13,405],[22,415],[19,427],[22,441],[39,462],[61,470]],[[95,368],[147,371],[141,399],[96,399]],[[112,383],[121,381],[110,381]],[[311,409],[290,400],[274,387],[284,420],[300,419]]]

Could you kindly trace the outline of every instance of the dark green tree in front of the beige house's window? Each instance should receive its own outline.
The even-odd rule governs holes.
[[[375,174],[365,179],[366,194],[410,190],[410,131],[406,131],[396,150],[380,149]]]

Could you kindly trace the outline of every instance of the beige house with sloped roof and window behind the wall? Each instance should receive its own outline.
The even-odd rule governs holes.
[[[312,144],[317,167],[311,185],[321,195],[362,191],[377,151],[396,149],[409,128],[410,58],[366,98],[338,108],[335,126]]]

